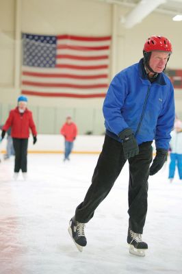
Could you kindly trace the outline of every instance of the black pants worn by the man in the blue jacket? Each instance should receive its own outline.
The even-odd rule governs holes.
[[[139,154],[129,158],[129,227],[140,234],[143,232],[147,212],[149,166],[153,158],[151,144],[152,142],[143,142],[139,145]],[[94,210],[112,189],[125,162],[122,143],[105,136],[92,184],[75,212],[77,221],[90,221]]]

